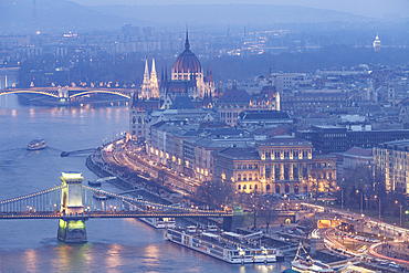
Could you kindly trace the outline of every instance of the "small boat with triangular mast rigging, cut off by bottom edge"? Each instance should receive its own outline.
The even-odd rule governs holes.
[[[334,273],[334,270],[321,261],[313,260],[308,254],[306,258],[303,258],[300,254],[300,250],[304,250],[304,253],[307,254],[303,244],[300,242],[298,250],[295,254],[294,260],[291,262],[291,269],[296,272],[306,272],[306,273]]]

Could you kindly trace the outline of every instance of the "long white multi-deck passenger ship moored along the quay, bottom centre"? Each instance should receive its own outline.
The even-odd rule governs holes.
[[[165,237],[170,242],[232,264],[274,263],[279,256],[284,258],[280,250],[261,246],[234,232],[211,232],[209,229],[201,231],[196,227],[188,227],[167,229]]]

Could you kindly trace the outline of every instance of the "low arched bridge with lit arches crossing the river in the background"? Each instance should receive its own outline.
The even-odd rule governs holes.
[[[8,88],[0,90],[0,96],[7,94],[38,94],[55,97],[61,103],[66,103],[75,97],[88,94],[111,94],[130,99],[133,90],[127,88],[101,88],[101,87],[31,87],[31,88]]]

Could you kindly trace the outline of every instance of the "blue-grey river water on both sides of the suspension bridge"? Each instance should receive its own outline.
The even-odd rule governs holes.
[[[61,151],[94,148],[128,128],[126,107],[45,108],[0,96],[0,200],[60,183],[61,171],[96,176],[86,156]],[[29,151],[44,138],[49,147]],[[104,189],[118,191],[109,185]],[[56,240],[57,220],[0,220],[0,272],[282,272],[289,262],[231,265],[165,241],[164,231],[135,219],[91,219],[88,242]]]

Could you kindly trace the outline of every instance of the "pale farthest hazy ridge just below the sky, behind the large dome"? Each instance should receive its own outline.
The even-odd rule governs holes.
[[[273,4],[172,4],[172,6],[97,6],[99,12],[154,23],[196,24],[272,24],[305,22],[356,22],[365,17],[347,12]]]

